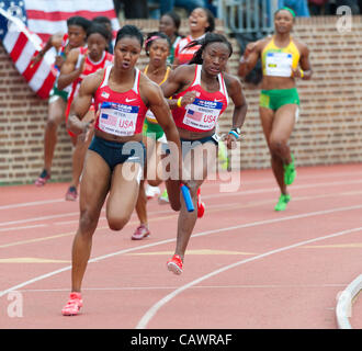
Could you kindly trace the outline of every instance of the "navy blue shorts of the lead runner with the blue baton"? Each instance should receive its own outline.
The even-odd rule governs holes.
[[[142,141],[117,143],[100,138],[94,135],[89,149],[99,154],[109,165],[111,171],[124,162],[145,165],[146,148]]]

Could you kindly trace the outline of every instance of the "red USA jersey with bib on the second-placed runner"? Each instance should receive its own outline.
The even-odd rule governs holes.
[[[195,65],[195,77],[192,84],[178,93],[173,99],[183,97],[188,91],[196,91],[196,99],[184,107],[172,110],[172,116],[179,128],[191,132],[210,132],[216,127],[220,114],[226,110],[228,93],[223,75],[217,76],[219,90],[207,92],[201,87],[201,65]]]

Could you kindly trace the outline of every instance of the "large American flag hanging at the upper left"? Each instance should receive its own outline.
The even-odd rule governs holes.
[[[31,58],[50,35],[67,32],[67,19],[72,15],[105,15],[114,31],[120,29],[113,0],[0,0],[0,39],[19,72],[42,99],[48,98],[56,79],[56,53],[47,52],[34,66]]]

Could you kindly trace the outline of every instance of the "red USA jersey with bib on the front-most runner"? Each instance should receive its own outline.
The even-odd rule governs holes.
[[[108,84],[112,67],[105,68],[103,81],[94,94],[95,112],[101,111],[94,127],[116,136],[139,134],[148,110],[139,95],[140,72],[135,68],[136,77],[131,90],[116,92]]]

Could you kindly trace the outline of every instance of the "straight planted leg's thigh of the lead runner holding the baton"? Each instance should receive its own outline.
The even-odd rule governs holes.
[[[110,188],[111,170],[97,152],[88,150],[80,182],[80,211],[101,211]]]

